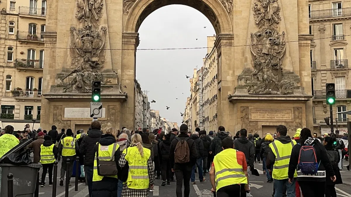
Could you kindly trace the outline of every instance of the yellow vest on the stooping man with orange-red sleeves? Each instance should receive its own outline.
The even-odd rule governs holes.
[[[224,149],[213,159],[216,171],[216,191],[228,185],[247,184],[243,166],[238,163],[237,150]]]

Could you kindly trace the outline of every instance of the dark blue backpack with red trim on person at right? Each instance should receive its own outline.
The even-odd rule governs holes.
[[[313,144],[314,145],[314,144]],[[311,144],[304,144],[299,151],[298,168],[302,173],[314,175],[318,171],[316,149]]]

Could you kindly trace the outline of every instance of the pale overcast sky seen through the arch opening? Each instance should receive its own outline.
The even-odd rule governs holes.
[[[138,49],[206,47],[207,36],[213,34],[213,26],[202,13],[192,7],[170,5],[157,9],[143,21]],[[185,75],[192,77],[193,69],[202,66],[205,55],[206,49],[139,50],[137,80],[141,89],[148,91],[149,101],[156,101],[150,103],[151,109],[181,124],[180,112],[184,112],[186,97],[190,96]],[[166,110],[166,106],[170,109]]]

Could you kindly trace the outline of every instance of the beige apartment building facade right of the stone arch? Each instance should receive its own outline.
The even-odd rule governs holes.
[[[336,103],[333,105],[333,120],[340,134],[347,133],[346,114],[351,110],[351,67],[348,58],[351,49],[351,1],[309,0],[309,34],[311,41],[311,77],[313,92],[313,130],[318,135],[329,133],[330,127],[324,118],[330,117],[325,100],[325,84],[335,83]]]

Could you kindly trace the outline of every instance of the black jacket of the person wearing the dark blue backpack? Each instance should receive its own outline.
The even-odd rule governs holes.
[[[309,139],[312,139],[312,138],[309,138]],[[329,176],[334,176],[335,173],[333,171],[333,167],[329,161],[329,158],[328,158],[328,155],[327,155],[327,152],[326,152],[324,146],[321,143],[319,143],[319,141],[317,139],[313,139],[313,143],[311,145],[313,145],[314,149],[316,149],[317,162],[318,163],[320,162],[319,167],[318,167],[318,171],[326,171],[326,173]],[[296,167],[298,166],[300,148],[301,148],[301,145],[296,144],[291,150],[289,171],[288,171],[289,178],[294,177],[294,172],[296,170]],[[319,178],[319,177],[312,177],[312,176],[311,177],[299,177],[298,176],[297,181],[325,182],[325,178],[326,177]]]

